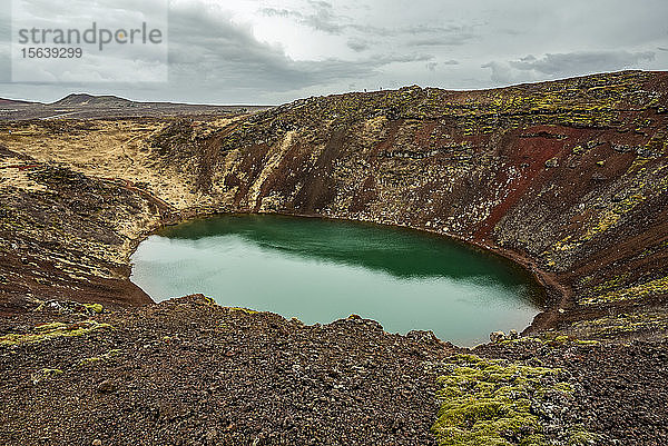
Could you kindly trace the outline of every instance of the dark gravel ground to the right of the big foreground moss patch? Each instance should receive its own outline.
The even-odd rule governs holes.
[[[668,445],[668,340],[490,344],[474,353],[568,370],[574,393],[564,423],[599,434],[598,444]]]

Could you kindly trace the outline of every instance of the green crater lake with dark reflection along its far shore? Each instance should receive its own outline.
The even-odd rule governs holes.
[[[220,216],[165,228],[132,256],[154,300],[203,293],[306,324],[351,314],[391,333],[474,345],[527,327],[540,291],[508,260],[409,229],[283,216]]]

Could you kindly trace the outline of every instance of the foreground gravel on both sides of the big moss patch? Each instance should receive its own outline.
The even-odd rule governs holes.
[[[532,399],[551,444],[573,426],[596,434],[580,445],[668,444],[668,341],[527,339],[472,353],[563,369],[572,394]],[[3,445],[435,445],[436,377],[469,353],[356,316],[304,326],[200,295],[100,314],[45,305],[3,318],[0,340]]]

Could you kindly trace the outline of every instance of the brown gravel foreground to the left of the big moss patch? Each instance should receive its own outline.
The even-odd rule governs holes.
[[[27,317],[19,328],[68,319]],[[96,319],[112,328],[0,347],[6,444],[435,444],[425,364],[452,348],[429,334],[303,326],[203,297]]]

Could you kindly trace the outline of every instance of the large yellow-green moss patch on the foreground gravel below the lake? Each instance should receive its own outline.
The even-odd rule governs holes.
[[[432,430],[440,445],[546,445],[532,400],[548,392],[570,392],[560,369],[530,367],[474,355],[450,358],[439,377],[441,404]]]

